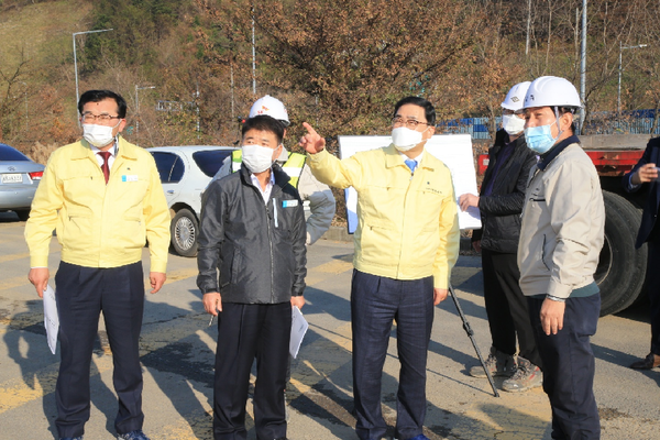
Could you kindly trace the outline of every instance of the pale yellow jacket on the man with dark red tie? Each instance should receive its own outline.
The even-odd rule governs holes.
[[[152,155],[119,138],[106,185],[87,141],[57,148],[40,183],[25,240],[32,267],[47,267],[53,229],[62,261],[85,267],[118,267],[142,260],[148,241],[151,272],[165,272],[169,209]]]

